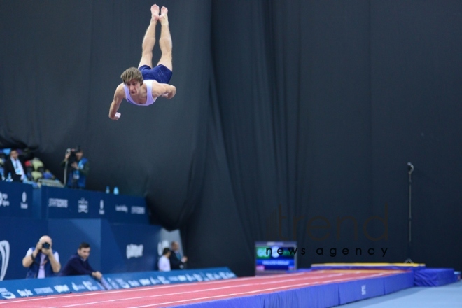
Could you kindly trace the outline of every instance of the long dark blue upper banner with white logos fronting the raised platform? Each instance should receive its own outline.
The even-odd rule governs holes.
[[[0,182],[0,216],[102,218],[110,223],[149,224],[143,197]]]

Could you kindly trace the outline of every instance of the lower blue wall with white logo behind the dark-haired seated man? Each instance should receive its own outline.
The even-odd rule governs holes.
[[[160,226],[110,224],[102,219],[50,219],[48,230],[62,266],[80,242],[90,244],[88,261],[100,272],[146,272],[156,269]],[[62,232],[65,230],[65,232]]]

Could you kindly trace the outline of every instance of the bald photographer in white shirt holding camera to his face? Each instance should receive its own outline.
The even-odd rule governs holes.
[[[52,251],[52,244],[51,237],[43,235],[35,247],[29,248],[22,259],[22,266],[29,268],[26,279],[54,276],[61,270],[59,253]]]

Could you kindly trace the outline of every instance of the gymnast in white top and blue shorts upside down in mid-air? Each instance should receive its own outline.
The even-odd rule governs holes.
[[[143,39],[143,53],[138,69],[130,67],[125,70],[120,78],[120,83],[114,94],[114,99],[109,109],[109,118],[118,120],[118,109],[123,99],[137,106],[149,106],[158,97],[171,99],[176,94],[176,87],[169,85],[172,78],[172,36],[169,30],[168,10],[162,7],[159,15],[159,6],[151,6],[151,23],[149,24]],[[155,26],[160,22],[159,45],[162,56],[158,65],[153,68],[153,48],[155,45]]]

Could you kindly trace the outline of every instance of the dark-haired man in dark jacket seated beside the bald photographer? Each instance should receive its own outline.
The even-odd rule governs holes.
[[[83,276],[90,275],[95,279],[101,280],[103,274],[95,271],[90,263],[88,257],[90,256],[90,244],[82,242],[78,247],[77,253],[71,255],[66,265],[61,270],[59,276]]]

